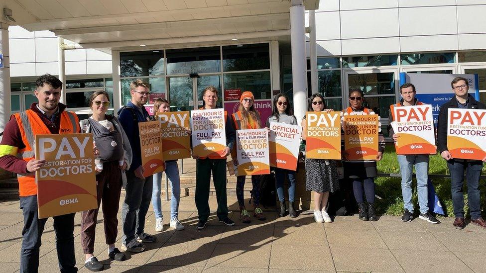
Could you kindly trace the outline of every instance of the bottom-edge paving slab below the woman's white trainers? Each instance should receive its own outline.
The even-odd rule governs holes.
[[[334,271],[334,262],[327,245],[272,245],[270,269]]]

